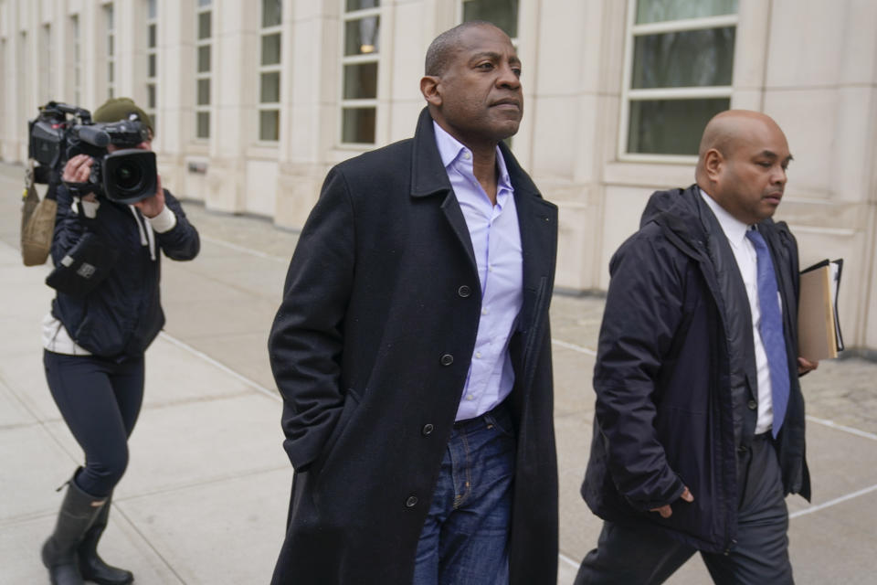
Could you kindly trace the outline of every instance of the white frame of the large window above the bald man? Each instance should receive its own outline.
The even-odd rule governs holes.
[[[630,103],[632,101],[646,100],[694,100],[727,98],[734,107],[734,81],[732,85],[699,86],[682,88],[649,88],[644,90],[631,89],[633,80],[634,41],[636,37],[648,35],[660,35],[672,32],[685,32],[690,30],[707,30],[720,27],[737,28],[740,23],[740,9],[734,15],[704,16],[697,18],[685,18],[682,20],[666,20],[656,23],[636,24],[637,2],[628,0],[627,23],[625,26],[624,40],[624,74],[621,81],[620,112],[618,122],[618,149],[619,161],[633,163],[671,163],[693,164],[697,162],[696,154],[657,154],[657,153],[630,153],[628,152],[628,132],[630,124]],[[738,43],[734,43],[734,62],[737,60]],[[732,68],[734,63],[732,63]]]

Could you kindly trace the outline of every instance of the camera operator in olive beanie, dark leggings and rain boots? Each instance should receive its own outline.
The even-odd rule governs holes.
[[[149,116],[128,98],[107,101],[95,122],[140,121],[149,137]],[[110,144],[112,153],[117,147]],[[192,260],[198,233],[180,203],[161,187],[133,205],[85,193],[94,159],[79,154],[64,167],[58,186],[58,219],[52,241],[56,266],[86,234],[112,250],[114,262],[84,295],[58,291],[43,322],[46,378],[58,410],[85,452],[85,466],[68,482],[55,532],[42,549],[52,583],[83,580],[122,584],[128,570],[110,567],[97,554],[107,527],[113,488],[128,463],[127,440],[143,402],[143,352],[164,325],[159,302],[160,252]],[[118,253],[117,253],[118,252]]]

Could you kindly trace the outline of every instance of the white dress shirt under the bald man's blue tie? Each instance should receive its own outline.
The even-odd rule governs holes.
[[[722,226],[724,235],[727,237],[728,243],[731,244],[734,260],[737,261],[737,268],[740,269],[740,275],[743,277],[743,283],[746,287],[746,296],[749,298],[749,311],[752,314],[752,339],[755,341],[755,367],[758,373],[758,419],[755,421],[755,434],[760,434],[770,431],[774,410],[771,400],[770,368],[767,366],[765,345],[762,343],[761,333],[758,331],[758,324],[761,321],[761,309],[758,306],[758,261],[755,255],[755,246],[746,238],[746,231],[754,228],[734,218],[703,189],[700,191],[701,197],[713,210],[713,215],[719,220],[719,225]],[[778,295],[779,293],[777,293],[777,302]],[[780,303],[780,311],[782,311],[782,303]]]

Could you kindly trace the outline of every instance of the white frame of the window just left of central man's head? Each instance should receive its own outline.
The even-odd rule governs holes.
[[[374,148],[377,144],[378,134],[378,112],[380,110],[379,101],[381,93],[381,49],[378,45],[377,50],[365,55],[344,55],[347,43],[347,23],[352,20],[361,20],[369,16],[378,18],[378,38],[381,35],[380,27],[386,21],[383,14],[383,3],[371,8],[361,8],[359,10],[347,10],[346,0],[339,0],[341,3],[341,34],[338,36],[340,40],[339,55],[341,56],[341,67],[338,68],[338,147],[344,149],[363,149]],[[362,65],[364,63],[375,63],[377,66],[377,79],[375,80],[375,97],[374,98],[344,98],[344,68],[347,65]],[[365,110],[372,108],[375,110],[375,137],[370,143],[347,143],[344,142],[344,112],[346,110]]]

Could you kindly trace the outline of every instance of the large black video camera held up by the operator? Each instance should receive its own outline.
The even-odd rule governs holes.
[[[81,193],[96,192],[122,204],[137,203],[155,194],[155,153],[134,148],[149,140],[143,122],[95,123],[91,112],[84,108],[49,101],[40,106],[37,119],[27,125],[30,157],[48,167],[51,175],[60,177],[64,165],[77,154],[94,159],[89,182],[79,187]],[[120,150],[109,153],[109,144]]]

